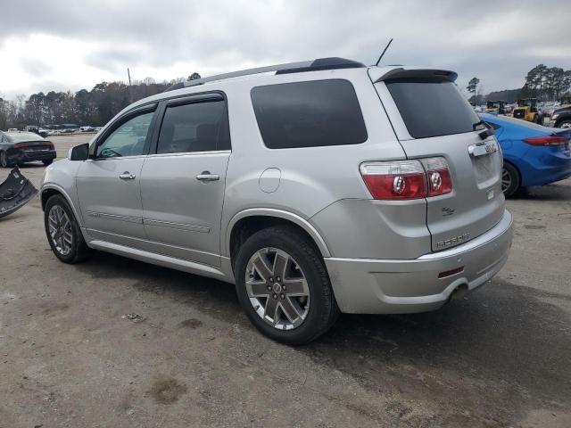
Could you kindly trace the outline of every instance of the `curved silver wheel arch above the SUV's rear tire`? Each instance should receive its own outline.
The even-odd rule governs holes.
[[[276,225],[297,227],[302,234],[310,238],[322,257],[331,257],[327,243],[309,221],[292,212],[275,209],[250,209],[237,213],[228,222],[224,240],[225,255],[234,260],[239,245],[244,243],[247,237],[263,228]]]

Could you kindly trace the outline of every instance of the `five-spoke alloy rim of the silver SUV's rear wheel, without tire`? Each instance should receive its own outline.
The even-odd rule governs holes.
[[[307,280],[299,264],[285,251],[256,251],[246,267],[245,285],[258,316],[278,330],[302,325],[309,313]]]

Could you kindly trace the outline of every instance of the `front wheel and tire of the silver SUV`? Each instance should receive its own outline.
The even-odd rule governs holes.
[[[52,215],[54,217],[51,218]],[[56,218],[55,222],[54,218]],[[55,194],[47,200],[44,210],[44,226],[47,242],[54,251],[55,257],[62,262],[75,264],[87,259],[90,255],[91,250],[83,239],[78,221],[62,195]],[[69,239],[66,240],[65,237]]]

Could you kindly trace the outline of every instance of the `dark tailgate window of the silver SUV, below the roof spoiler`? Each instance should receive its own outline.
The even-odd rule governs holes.
[[[414,138],[471,132],[479,121],[451,81],[394,79],[385,84]]]

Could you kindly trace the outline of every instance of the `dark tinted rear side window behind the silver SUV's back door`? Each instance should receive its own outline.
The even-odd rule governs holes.
[[[359,101],[347,80],[254,87],[252,105],[269,149],[360,144],[367,140]]]

